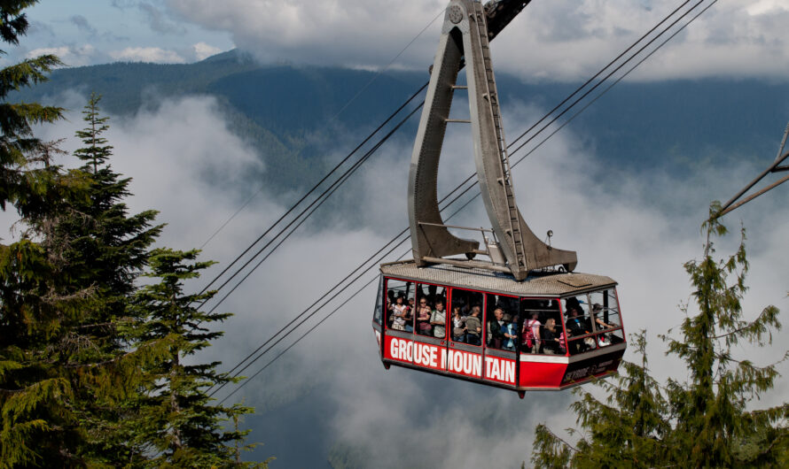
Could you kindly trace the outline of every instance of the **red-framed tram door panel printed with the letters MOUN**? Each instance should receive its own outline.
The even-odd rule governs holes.
[[[482,378],[482,339],[485,296],[477,291],[452,288],[447,325],[447,371]]]

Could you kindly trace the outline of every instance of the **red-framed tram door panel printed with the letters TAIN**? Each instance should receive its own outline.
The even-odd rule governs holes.
[[[514,386],[523,327],[519,298],[488,293],[485,300],[484,379]]]

